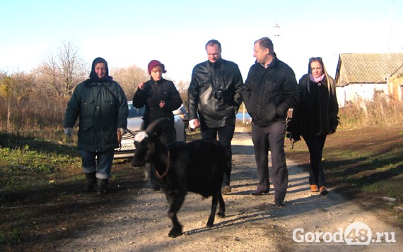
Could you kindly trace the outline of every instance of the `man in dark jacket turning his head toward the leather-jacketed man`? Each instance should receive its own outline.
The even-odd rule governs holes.
[[[243,101],[252,117],[252,141],[259,177],[259,185],[252,194],[261,196],[269,193],[270,150],[274,203],[284,206],[288,187],[284,152],[286,114],[298,102],[298,83],[293,70],[277,59],[269,37],[255,42],[253,56],[256,62],[250,67],[243,90]]]

